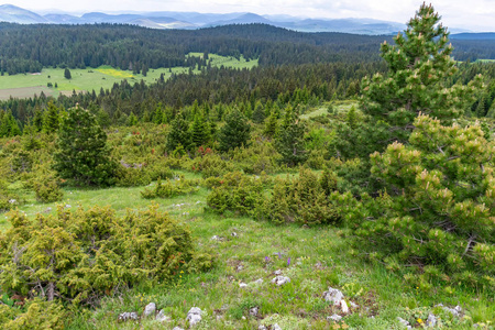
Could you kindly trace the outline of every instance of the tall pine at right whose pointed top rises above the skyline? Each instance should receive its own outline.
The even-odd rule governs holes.
[[[406,31],[394,37],[395,45],[382,44],[387,75],[363,79],[362,110],[388,123],[394,132],[391,140],[407,142],[419,113],[450,123],[473,101],[472,95],[481,86],[479,77],[468,87],[447,87],[447,78],[457,67],[450,57],[449,33],[439,21],[431,4],[424,3]]]

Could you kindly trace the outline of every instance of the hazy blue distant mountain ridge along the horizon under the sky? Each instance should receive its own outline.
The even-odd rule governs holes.
[[[21,24],[94,24],[117,23],[134,24],[150,29],[201,29],[230,24],[264,23],[299,32],[342,32],[353,34],[395,34],[405,29],[405,24],[373,19],[301,19],[289,15],[258,15],[250,12],[198,13],[198,12],[143,12],[108,14],[89,12],[81,16],[65,13],[40,15],[35,12],[12,6],[0,6],[0,21]],[[466,32],[451,29],[451,32]]]

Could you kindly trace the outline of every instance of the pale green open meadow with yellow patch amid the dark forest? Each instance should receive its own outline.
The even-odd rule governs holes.
[[[199,56],[202,54],[191,53],[190,55]],[[252,68],[257,65],[257,61],[246,62],[244,58],[240,61],[232,57],[223,57],[219,55],[209,55],[212,58],[212,66],[224,66],[234,68]],[[40,74],[20,74],[14,76],[1,76],[0,77],[0,100],[9,99],[12,97],[29,98],[35,94],[40,95],[41,91],[46,96],[57,97],[61,92],[67,94],[73,90],[76,91],[99,91],[101,88],[109,89],[116,82],[120,82],[127,79],[129,82],[134,84],[144,80],[146,84],[153,84],[160,76],[164,74],[165,79],[168,79],[172,74],[187,73],[189,68],[174,67],[150,69],[146,77],[143,75],[134,75],[130,70],[116,69],[110,66],[101,66],[98,68],[86,69],[70,69],[72,79],[64,77],[63,68],[44,68]],[[199,70],[194,70],[199,73]],[[54,87],[48,88],[47,84],[52,82]],[[56,88],[55,88],[56,84]]]

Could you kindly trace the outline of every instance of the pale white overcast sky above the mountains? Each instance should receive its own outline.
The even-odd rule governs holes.
[[[254,12],[308,18],[371,18],[405,23],[422,1],[413,0],[8,0],[30,10]],[[428,2],[427,2],[428,3]],[[495,0],[436,0],[447,26],[495,31]]]

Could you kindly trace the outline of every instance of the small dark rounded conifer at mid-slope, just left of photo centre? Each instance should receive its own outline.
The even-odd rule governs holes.
[[[223,152],[235,147],[246,146],[251,139],[251,125],[244,114],[234,109],[226,118],[226,124],[220,129],[219,148]]]

